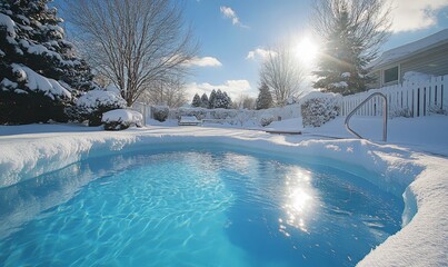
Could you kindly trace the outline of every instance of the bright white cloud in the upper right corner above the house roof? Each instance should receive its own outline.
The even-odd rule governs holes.
[[[448,0],[395,0],[391,17],[394,32],[427,29],[437,24],[437,13]]]

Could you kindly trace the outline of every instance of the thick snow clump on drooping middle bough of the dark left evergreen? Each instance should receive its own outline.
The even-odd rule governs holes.
[[[71,98],[71,93],[58,81],[46,78],[23,65],[12,63],[11,66],[13,71],[19,75],[20,80],[27,81],[27,86],[30,90],[42,91],[51,99],[54,99],[56,96]]]

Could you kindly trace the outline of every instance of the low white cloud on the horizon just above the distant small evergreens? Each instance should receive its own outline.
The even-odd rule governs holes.
[[[226,91],[232,100],[235,100],[240,95],[255,95],[251,91],[252,88],[250,87],[248,80],[227,80],[223,85],[211,85],[208,82],[191,82],[187,85],[187,92],[191,96],[191,99],[195,93],[199,93],[199,96],[202,96],[202,93],[207,93],[208,96],[210,96],[210,92],[213,89]]]

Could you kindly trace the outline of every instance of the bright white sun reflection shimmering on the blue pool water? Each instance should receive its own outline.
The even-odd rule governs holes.
[[[308,224],[316,215],[317,194],[311,185],[311,172],[293,168],[287,176],[285,182],[285,218],[279,218],[279,231],[287,237],[288,226],[309,233]]]

